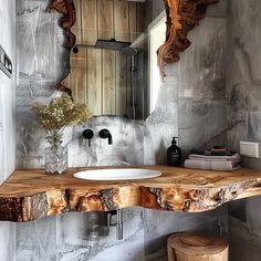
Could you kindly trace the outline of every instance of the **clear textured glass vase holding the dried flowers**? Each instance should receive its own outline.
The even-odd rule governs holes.
[[[67,147],[62,143],[52,144],[44,150],[45,173],[62,174],[67,169]]]

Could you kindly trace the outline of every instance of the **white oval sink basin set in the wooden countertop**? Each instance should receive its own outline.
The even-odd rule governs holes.
[[[152,169],[138,168],[114,168],[114,169],[94,169],[74,174],[75,178],[86,180],[126,180],[145,179],[159,177],[161,173]]]

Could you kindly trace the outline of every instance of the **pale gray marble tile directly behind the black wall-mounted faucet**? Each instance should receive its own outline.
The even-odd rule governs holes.
[[[86,128],[91,128],[95,135],[91,146],[83,138],[83,130]],[[98,132],[103,128],[109,129],[113,145],[98,137]],[[91,118],[84,126],[73,127],[69,164],[75,167],[143,165],[143,125],[117,116]]]

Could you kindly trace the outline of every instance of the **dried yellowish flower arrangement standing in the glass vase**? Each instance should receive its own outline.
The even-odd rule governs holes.
[[[74,103],[67,94],[53,98],[49,105],[36,102],[33,106],[40,125],[46,130],[46,140],[51,146],[59,146],[65,127],[83,124],[92,114],[87,105]]]

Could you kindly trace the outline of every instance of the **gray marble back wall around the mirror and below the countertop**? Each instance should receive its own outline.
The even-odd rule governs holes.
[[[43,166],[44,133],[35,123],[31,106],[35,101],[49,101],[56,95],[53,85],[69,69],[67,53],[61,48],[62,31],[56,25],[60,15],[45,13],[46,3],[48,0],[17,0],[19,168]],[[166,148],[177,135],[180,135],[185,152],[194,146],[208,146],[216,139],[223,142],[225,74],[220,70],[226,43],[225,11],[226,4],[221,1],[210,9],[208,20],[202,21],[203,30],[197,28],[196,33],[191,33],[191,41],[196,42],[191,46],[191,60],[184,54],[182,64],[166,66],[167,76],[156,108],[145,124],[100,116],[84,126],[67,129],[65,143],[70,143],[70,166],[165,163]],[[200,43],[199,35],[211,40],[207,44]],[[194,74],[189,82],[188,77],[196,70],[200,77]],[[86,127],[95,130],[91,147],[81,136]],[[97,137],[97,132],[104,127],[113,134],[113,146]],[[93,233],[96,225],[98,231]],[[17,260],[105,261],[109,258],[115,261],[164,261],[167,260],[166,239],[175,231],[226,233],[227,207],[197,215],[127,208],[124,210],[122,241],[115,239],[115,228],[107,230],[103,225],[104,213],[66,213],[19,223],[15,230]]]

